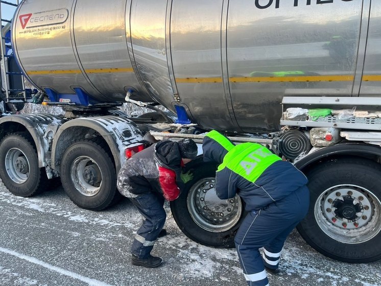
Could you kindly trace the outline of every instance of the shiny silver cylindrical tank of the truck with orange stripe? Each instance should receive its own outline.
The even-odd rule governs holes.
[[[12,40],[40,89],[180,102],[204,128],[279,128],[284,96],[379,96],[381,2],[25,0]]]

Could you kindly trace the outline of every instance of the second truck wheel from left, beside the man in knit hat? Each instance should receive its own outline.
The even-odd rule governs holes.
[[[61,162],[61,182],[70,200],[84,209],[103,210],[117,196],[115,166],[96,140],[67,148]]]

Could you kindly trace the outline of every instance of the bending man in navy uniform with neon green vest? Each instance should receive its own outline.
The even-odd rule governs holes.
[[[307,213],[307,179],[266,147],[234,145],[215,130],[204,137],[202,148],[204,162],[220,164],[215,185],[219,198],[239,194],[248,211],[234,237],[246,281],[249,286],[269,285],[265,267],[278,272],[284,240]]]

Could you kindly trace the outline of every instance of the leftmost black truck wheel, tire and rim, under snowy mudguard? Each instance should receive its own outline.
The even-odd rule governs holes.
[[[0,143],[0,178],[18,196],[32,196],[46,189],[46,172],[38,166],[37,151],[29,133],[10,134]]]

